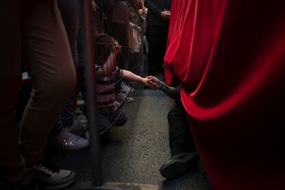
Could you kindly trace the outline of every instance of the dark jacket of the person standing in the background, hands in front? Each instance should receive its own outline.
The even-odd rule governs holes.
[[[160,18],[160,12],[170,10],[171,0],[144,0],[147,8],[147,25],[166,25],[169,21]]]

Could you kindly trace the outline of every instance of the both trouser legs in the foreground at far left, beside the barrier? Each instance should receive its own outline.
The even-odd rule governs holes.
[[[0,180],[27,179],[26,165],[42,158],[47,137],[74,91],[75,70],[61,14],[52,1],[3,1],[0,13]],[[9,18],[9,19],[8,19]],[[21,60],[33,91],[21,120],[19,142],[14,105],[21,85]]]

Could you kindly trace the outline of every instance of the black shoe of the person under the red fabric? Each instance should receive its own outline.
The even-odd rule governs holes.
[[[161,176],[174,179],[193,170],[199,161],[198,153],[181,153],[173,156],[160,167]]]

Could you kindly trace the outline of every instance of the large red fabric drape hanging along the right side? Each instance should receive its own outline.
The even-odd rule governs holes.
[[[285,188],[285,1],[173,0],[165,80],[215,189]]]

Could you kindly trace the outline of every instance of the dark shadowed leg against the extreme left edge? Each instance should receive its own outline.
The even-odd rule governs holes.
[[[21,6],[20,1],[3,1],[0,38],[5,48],[0,57],[0,181],[17,186],[25,180],[25,161],[19,151],[14,106],[21,85]],[[0,182],[1,185],[1,182]]]

